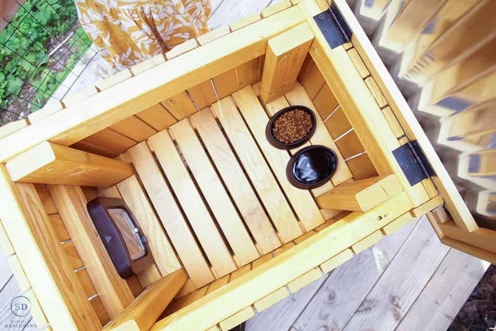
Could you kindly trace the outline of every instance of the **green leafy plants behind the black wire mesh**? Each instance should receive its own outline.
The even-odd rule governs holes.
[[[59,45],[57,39],[63,40],[70,33],[65,46],[52,55],[63,67],[48,53]],[[62,57],[61,53],[73,52],[80,57],[91,41],[77,24],[72,0],[27,0],[0,33],[0,44],[0,107],[6,109],[23,87],[32,84],[41,90],[31,100],[34,111],[43,106],[77,63],[75,55]]]

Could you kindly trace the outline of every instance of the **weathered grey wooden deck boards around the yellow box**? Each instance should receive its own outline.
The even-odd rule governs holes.
[[[228,25],[273,2],[277,0],[212,0],[209,25]],[[75,86],[105,78],[109,72],[99,67],[87,66]],[[441,245],[422,218],[256,314],[247,330],[446,330],[488,266]],[[1,253],[0,330],[17,320],[10,302],[21,294]],[[22,320],[29,323],[31,317]]]

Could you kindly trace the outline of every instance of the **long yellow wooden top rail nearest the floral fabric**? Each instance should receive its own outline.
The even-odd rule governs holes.
[[[0,162],[45,140],[72,145],[95,132],[265,54],[266,41],[304,21],[291,7],[195,48],[0,139]],[[57,125],[54,125],[57,123]],[[5,148],[4,148],[5,147]]]

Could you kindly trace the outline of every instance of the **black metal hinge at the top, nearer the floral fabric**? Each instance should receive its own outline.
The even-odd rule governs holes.
[[[313,19],[331,49],[350,41],[353,32],[334,3],[326,11],[313,16]]]

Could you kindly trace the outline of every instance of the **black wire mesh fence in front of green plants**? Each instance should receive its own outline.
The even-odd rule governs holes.
[[[12,2],[16,11],[0,24],[3,125],[39,110],[51,98],[62,99],[96,51],[72,0],[1,1]]]

